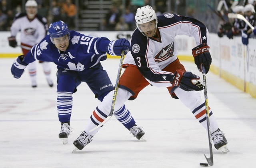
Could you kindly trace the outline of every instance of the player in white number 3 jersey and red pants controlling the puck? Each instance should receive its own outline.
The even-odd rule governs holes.
[[[207,45],[208,30],[202,22],[194,18],[179,16],[176,14],[164,14],[156,16],[151,6],[138,8],[135,16],[137,28],[131,38],[131,51],[124,59],[122,74],[114,107],[114,116],[125,116],[120,112],[126,100],[134,100],[139,92],[148,85],[166,87],[173,98],[180,101],[190,109],[196,120],[207,130],[205,102],[200,96],[203,90],[199,76],[186,72],[184,66],[177,58],[177,35],[192,36],[196,40],[196,46],[192,49],[195,64],[202,72],[202,66],[206,73],[212,62]],[[113,91],[97,106],[95,111],[104,114],[110,112]],[[209,108],[210,109],[210,108]],[[209,110],[212,139],[216,149],[229,152],[224,133],[220,131],[216,119]],[[122,117],[120,117],[122,118]],[[124,117],[123,117],[124,118]],[[74,141],[74,150],[81,150],[92,141],[92,136],[100,129],[97,124],[104,121],[105,116],[100,116],[97,123],[88,123],[85,131]],[[119,119],[119,118],[118,118]],[[128,121],[127,121],[128,123]]]

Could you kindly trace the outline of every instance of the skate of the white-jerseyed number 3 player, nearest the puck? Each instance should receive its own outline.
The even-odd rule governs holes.
[[[218,150],[221,150],[224,153],[228,153],[228,141],[226,140],[224,133],[218,128],[214,133],[212,133],[212,140],[214,147]]]

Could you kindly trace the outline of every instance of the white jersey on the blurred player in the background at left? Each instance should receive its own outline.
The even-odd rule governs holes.
[[[29,20],[26,13],[19,13],[15,16],[10,30],[14,37],[20,31],[21,42],[34,46],[46,36],[48,25],[46,18],[38,14],[33,20]]]

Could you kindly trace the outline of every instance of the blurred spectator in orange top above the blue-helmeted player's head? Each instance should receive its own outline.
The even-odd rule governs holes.
[[[76,16],[76,6],[72,4],[71,0],[66,0],[66,3],[62,6],[64,12],[66,12],[67,17],[65,23],[70,27],[70,29],[74,29],[75,27],[75,16]]]

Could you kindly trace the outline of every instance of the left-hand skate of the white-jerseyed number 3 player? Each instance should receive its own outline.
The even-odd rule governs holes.
[[[73,152],[75,152],[78,149],[82,150],[87,144],[92,142],[92,137],[93,136],[90,136],[85,131],[82,132],[82,134],[80,136],[78,136],[78,138],[76,138],[76,140],[74,140],[74,142],[73,142],[73,144],[74,144]]]

